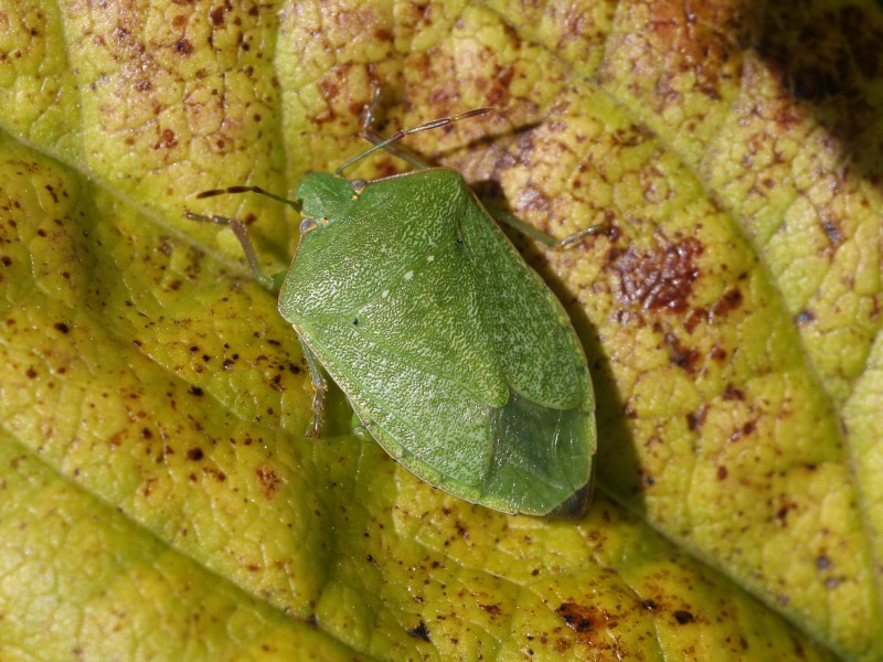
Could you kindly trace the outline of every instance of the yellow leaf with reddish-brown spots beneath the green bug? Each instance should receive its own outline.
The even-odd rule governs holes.
[[[0,2],[0,659],[882,660],[874,2]],[[581,521],[353,436],[228,229],[383,131],[513,235],[598,398]],[[406,166],[380,154],[352,174]],[[333,274],[333,265],[329,265]]]

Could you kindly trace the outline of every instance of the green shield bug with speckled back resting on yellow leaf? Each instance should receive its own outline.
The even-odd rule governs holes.
[[[466,501],[506,513],[582,513],[596,448],[592,381],[563,307],[524,263],[467,185],[392,143],[405,135],[489,111],[480,108],[398,131],[334,174],[311,172],[295,200],[256,192],[302,214],[287,274],[262,273],[245,227],[232,227],[256,278],[278,291],[300,340],[321,425],[326,381],[347,395],[361,425],[405,468]],[[417,170],[370,182],[342,171],[377,149]],[[554,242],[514,217],[510,223]],[[283,279],[284,277],[284,279]]]

